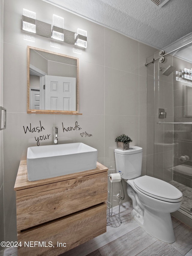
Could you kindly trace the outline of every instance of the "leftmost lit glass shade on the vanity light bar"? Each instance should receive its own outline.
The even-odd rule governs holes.
[[[36,13],[23,9],[22,29],[27,32],[36,33]]]

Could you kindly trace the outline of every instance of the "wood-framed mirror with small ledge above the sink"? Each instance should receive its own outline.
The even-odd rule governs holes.
[[[79,113],[79,59],[27,47],[27,113]]]

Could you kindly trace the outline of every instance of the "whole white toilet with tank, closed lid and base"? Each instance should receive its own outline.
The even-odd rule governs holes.
[[[147,232],[162,242],[173,243],[175,236],[170,212],[178,210],[182,193],[161,179],[141,176],[143,149],[115,149],[116,172],[123,173],[127,193],[133,202],[132,216]]]

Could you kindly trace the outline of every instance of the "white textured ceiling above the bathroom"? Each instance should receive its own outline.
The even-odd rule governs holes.
[[[192,32],[192,0],[43,0],[158,49]]]

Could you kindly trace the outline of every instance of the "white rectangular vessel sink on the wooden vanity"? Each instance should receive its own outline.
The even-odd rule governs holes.
[[[35,146],[27,149],[29,181],[96,168],[97,149],[84,143]]]

